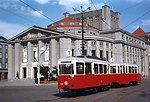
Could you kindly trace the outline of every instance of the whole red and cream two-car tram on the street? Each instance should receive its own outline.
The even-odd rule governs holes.
[[[136,65],[109,63],[92,58],[68,57],[58,61],[58,89],[77,91],[140,83]]]

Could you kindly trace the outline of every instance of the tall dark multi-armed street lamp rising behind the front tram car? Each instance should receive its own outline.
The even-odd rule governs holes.
[[[82,48],[82,50],[81,50],[81,52],[82,52],[82,55],[83,56],[85,56],[85,53],[84,53],[84,29],[83,29],[83,14],[84,14],[84,12],[86,12],[87,10],[90,10],[90,8],[91,7],[88,7],[87,9],[85,9],[85,10],[83,10],[83,6],[81,5],[80,6],[81,7],[81,10],[78,10],[78,9],[76,9],[76,8],[74,8],[73,7],[73,10],[74,11],[77,11],[77,12],[79,12],[79,13],[81,13],[81,20],[82,20],[82,46],[81,46],[81,48]]]

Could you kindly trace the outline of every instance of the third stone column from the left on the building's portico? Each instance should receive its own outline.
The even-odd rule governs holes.
[[[32,62],[32,43],[28,42],[28,68],[27,68],[27,78],[31,78],[31,62]]]

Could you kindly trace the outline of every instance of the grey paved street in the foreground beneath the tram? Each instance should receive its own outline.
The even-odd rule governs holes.
[[[1,84],[1,82],[0,82]],[[0,85],[0,102],[150,102],[150,79],[141,85],[112,88],[102,92],[62,92],[57,84]]]

